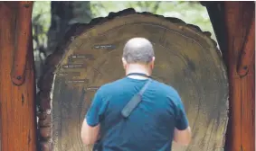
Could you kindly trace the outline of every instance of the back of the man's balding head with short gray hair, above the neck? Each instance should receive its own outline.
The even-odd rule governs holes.
[[[124,47],[123,58],[128,64],[148,64],[154,58],[155,53],[151,42],[145,38],[133,38],[128,40]]]

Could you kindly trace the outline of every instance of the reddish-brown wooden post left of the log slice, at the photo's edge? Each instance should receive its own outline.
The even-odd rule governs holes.
[[[33,2],[0,2],[0,138],[2,151],[36,150],[33,45],[30,36],[32,31],[31,28],[26,29],[30,27],[31,20],[21,22],[26,21],[25,18],[31,19],[32,6]],[[30,33],[24,35],[25,32]],[[21,41],[17,42],[17,40]],[[24,47],[19,45],[20,42]],[[18,50],[20,56],[15,56],[19,47],[21,47]],[[25,52],[27,52],[26,56],[24,56]],[[19,67],[18,74],[24,78],[24,81],[22,78],[17,79],[22,80],[19,86],[13,83],[11,76],[14,58],[19,58],[16,60]],[[19,70],[22,68],[24,70]]]

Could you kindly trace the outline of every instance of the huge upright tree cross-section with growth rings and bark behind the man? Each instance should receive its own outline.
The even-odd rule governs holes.
[[[124,76],[122,49],[133,37],[154,43],[153,77],[173,85],[185,103],[193,141],[189,147],[175,145],[174,150],[221,151],[228,121],[228,84],[220,51],[209,35],[178,19],[131,9],[74,25],[47,58],[39,82],[43,151],[90,150],[81,143],[81,122],[94,88]]]

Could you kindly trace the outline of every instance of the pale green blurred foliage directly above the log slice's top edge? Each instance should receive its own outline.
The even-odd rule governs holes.
[[[119,12],[127,8],[134,8],[137,12],[150,12],[165,17],[175,17],[186,23],[197,25],[202,31],[210,31],[213,40],[215,35],[206,8],[198,2],[187,1],[91,1],[93,17],[105,17],[110,12]]]

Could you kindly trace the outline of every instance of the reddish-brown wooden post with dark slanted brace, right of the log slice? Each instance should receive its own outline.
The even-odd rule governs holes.
[[[255,4],[205,2],[204,5],[228,67],[230,120],[225,150],[255,150]]]

